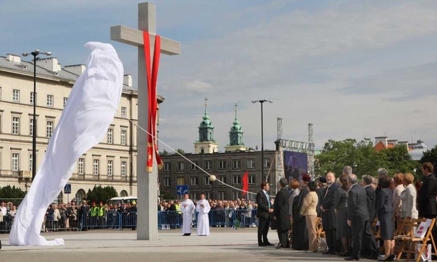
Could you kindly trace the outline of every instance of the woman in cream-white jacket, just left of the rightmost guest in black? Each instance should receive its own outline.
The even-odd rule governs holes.
[[[402,179],[405,189],[401,193],[402,200],[402,218],[418,218],[419,212],[416,208],[416,188],[413,185],[414,176],[411,173],[404,174]]]

